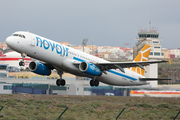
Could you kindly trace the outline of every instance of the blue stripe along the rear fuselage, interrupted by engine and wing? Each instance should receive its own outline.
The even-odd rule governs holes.
[[[77,58],[77,57],[73,57],[73,59],[74,59],[74,60],[77,60],[77,61],[80,61],[80,62],[85,61],[85,60],[80,59],[80,58]],[[119,73],[119,72],[116,72],[116,71],[113,71],[113,70],[109,70],[109,72],[110,72],[110,73],[113,73],[113,74],[115,74],[115,75],[121,76],[121,77],[125,77],[125,78],[127,78],[127,79],[131,79],[131,80],[133,80],[133,81],[136,81],[136,80],[137,80],[136,78],[130,77],[130,76],[128,76],[128,75],[125,75],[125,74],[122,74],[122,73]]]

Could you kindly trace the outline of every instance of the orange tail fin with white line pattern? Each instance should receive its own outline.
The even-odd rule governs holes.
[[[141,61],[148,61],[149,53],[151,51],[151,46],[146,44],[139,54],[136,56],[133,62],[141,62]],[[144,75],[145,70],[140,67],[131,67],[130,70],[137,72],[140,75]]]

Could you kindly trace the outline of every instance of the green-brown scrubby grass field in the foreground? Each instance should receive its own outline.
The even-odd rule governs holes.
[[[167,120],[180,110],[180,98],[109,96],[0,95],[2,120]],[[178,116],[177,119],[180,119]]]

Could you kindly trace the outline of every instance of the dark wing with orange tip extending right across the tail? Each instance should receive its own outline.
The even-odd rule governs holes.
[[[140,67],[144,69],[144,66],[154,64],[154,63],[163,63],[169,62],[171,64],[171,60],[159,60],[159,61],[142,61],[142,62],[110,62],[110,63],[97,63],[95,64],[98,66],[102,71],[109,70],[109,69],[120,69],[124,72],[123,68],[130,68],[130,67]]]

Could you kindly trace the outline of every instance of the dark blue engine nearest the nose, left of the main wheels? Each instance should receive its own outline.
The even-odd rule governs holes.
[[[50,75],[51,74],[51,70],[48,67],[46,67],[46,65],[39,63],[37,61],[30,62],[29,69],[31,70],[31,72],[34,72],[39,75]]]

